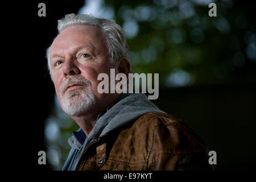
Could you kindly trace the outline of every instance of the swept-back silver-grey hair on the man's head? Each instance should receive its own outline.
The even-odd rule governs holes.
[[[94,18],[92,15],[68,14],[65,15],[65,18],[58,20],[57,29],[60,34],[65,28],[77,24],[85,24],[101,28],[106,35],[106,46],[109,51],[110,64],[117,65],[122,57],[126,57],[126,59],[130,61],[129,46],[126,42],[125,35],[123,34],[122,28],[115,23],[114,20]],[[48,61],[48,71],[52,78],[50,51],[51,46],[47,48],[46,57]]]

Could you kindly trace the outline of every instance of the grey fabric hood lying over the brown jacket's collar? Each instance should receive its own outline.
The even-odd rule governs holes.
[[[93,127],[85,143],[118,129],[146,113],[165,113],[150,102],[145,94],[130,94],[109,109]],[[165,113],[166,114],[166,113]],[[85,144],[86,145],[86,144]]]

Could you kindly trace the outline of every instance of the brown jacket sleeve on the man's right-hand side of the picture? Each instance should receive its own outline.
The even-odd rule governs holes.
[[[203,139],[184,122],[158,123],[148,158],[149,170],[213,170]]]

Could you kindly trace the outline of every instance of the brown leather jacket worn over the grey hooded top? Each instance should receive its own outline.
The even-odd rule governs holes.
[[[169,114],[147,113],[83,152],[77,170],[211,170],[203,139]]]

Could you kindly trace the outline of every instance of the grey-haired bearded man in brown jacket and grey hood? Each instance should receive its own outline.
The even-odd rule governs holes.
[[[47,49],[49,73],[62,109],[80,126],[63,170],[210,169],[199,135],[144,94],[98,92],[100,73],[131,72],[117,23],[69,14],[58,30]]]

